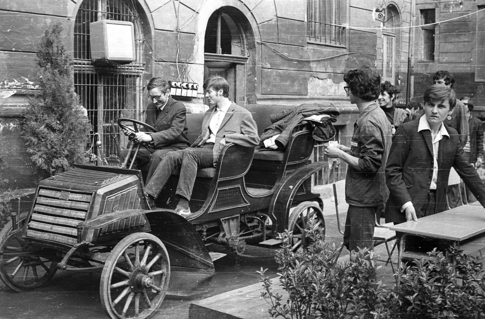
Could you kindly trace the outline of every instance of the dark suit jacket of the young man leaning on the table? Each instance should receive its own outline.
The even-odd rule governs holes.
[[[428,190],[433,175],[433,143],[431,131],[418,132],[419,120],[404,123],[394,135],[386,166],[386,181],[390,191],[386,204],[389,222],[406,221],[401,207],[411,201],[419,211],[428,201]],[[485,186],[472,165],[468,163],[459,135],[445,125],[450,137],[443,136],[438,148],[438,179],[436,181],[436,211],[447,209],[448,176],[453,166],[470,191],[485,205]]]

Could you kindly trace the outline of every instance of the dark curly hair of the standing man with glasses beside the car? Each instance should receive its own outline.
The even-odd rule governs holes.
[[[349,70],[343,80],[350,86],[350,92],[364,101],[375,100],[381,93],[381,76],[369,65]]]

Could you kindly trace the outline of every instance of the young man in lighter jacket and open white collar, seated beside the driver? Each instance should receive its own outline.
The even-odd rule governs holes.
[[[154,206],[155,198],[170,175],[180,167],[175,213],[188,216],[191,213],[189,201],[197,167],[215,167],[226,143],[247,147],[259,144],[258,128],[252,114],[228,99],[229,84],[224,78],[212,76],[205,80],[204,91],[211,107],[202,120],[200,135],[189,148],[170,152],[160,162],[146,184],[146,198],[150,207]]]

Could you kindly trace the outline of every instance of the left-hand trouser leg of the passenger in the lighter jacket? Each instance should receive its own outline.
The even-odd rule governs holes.
[[[173,171],[182,164],[183,152],[185,150],[169,152],[165,155],[163,160],[157,166],[152,177],[148,180],[145,186],[145,191],[157,198],[162,191],[163,186],[167,183]]]

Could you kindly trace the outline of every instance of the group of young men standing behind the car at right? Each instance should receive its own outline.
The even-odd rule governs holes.
[[[485,185],[476,171],[482,164],[482,123],[471,114],[469,97],[457,100],[449,72],[436,72],[424,106],[412,105],[414,112],[395,108],[399,91],[381,84],[368,66],[348,71],[344,81],[360,114],[351,146],[329,146],[325,154],[348,164],[343,241],[349,251],[373,248],[381,211],[386,222],[404,223],[446,210],[452,168],[485,207]]]

